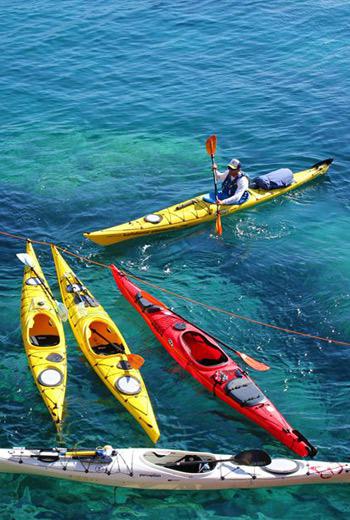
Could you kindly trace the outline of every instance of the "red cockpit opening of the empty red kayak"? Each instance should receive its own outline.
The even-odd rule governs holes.
[[[221,348],[199,332],[184,332],[181,335],[181,341],[186,351],[200,365],[213,367],[228,361],[228,357]]]

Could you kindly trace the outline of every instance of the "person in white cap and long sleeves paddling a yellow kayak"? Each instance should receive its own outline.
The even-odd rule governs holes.
[[[241,163],[238,159],[232,159],[224,172],[219,172],[215,163],[213,170],[216,180],[222,182],[221,191],[218,193],[216,202],[231,205],[243,204],[243,202],[248,200],[249,180],[241,170]]]

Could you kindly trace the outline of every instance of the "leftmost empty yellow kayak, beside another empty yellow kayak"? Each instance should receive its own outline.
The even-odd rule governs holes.
[[[21,298],[24,348],[34,381],[59,431],[67,381],[63,326],[57,303],[29,241],[23,256],[28,259],[24,269]]]

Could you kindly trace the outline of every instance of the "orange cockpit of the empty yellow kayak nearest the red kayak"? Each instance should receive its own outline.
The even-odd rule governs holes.
[[[104,321],[92,321],[86,330],[87,341],[94,354],[115,356],[124,352],[119,334]]]

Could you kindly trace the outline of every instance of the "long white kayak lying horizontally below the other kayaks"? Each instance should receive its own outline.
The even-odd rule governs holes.
[[[105,486],[173,490],[350,482],[349,463],[271,459],[260,450],[215,455],[111,446],[91,451],[11,448],[0,449],[0,472],[45,475]]]

